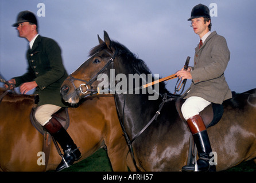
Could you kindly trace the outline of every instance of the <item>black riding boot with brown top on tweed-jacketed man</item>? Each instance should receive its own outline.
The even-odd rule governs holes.
[[[196,144],[199,160],[197,160],[198,171],[215,172],[215,165],[210,165],[210,153],[212,152],[210,140],[200,115],[193,116],[187,120],[187,124]],[[183,171],[195,171],[195,166],[183,166]]]

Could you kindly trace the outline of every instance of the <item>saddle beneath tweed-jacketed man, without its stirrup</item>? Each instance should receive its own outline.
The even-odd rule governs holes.
[[[181,113],[181,106],[184,104],[184,102],[185,102],[184,98],[177,98],[175,105],[181,120],[186,122],[185,118],[183,117],[183,114]],[[224,112],[223,105],[211,103],[199,114],[203,119],[204,125],[206,126],[206,128],[209,128],[210,126],[216,125],[220,121],[220,119],[222,118],[223,112]]]

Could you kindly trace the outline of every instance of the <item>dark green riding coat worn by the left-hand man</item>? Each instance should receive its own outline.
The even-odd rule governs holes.
[[[68,77],[61,58],[59,45],[51,38],[38,35],[32,49],[26,53],[28,71],[14,77],[16,86],[24,82],[36,81],[37,87],[34,94],[38,94],[38,105],[52,104],[66,106],[60,96],[60,87]]]

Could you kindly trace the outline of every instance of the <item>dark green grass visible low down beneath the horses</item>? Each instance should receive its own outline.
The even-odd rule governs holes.
[[[63,172],[111,172],[110,161],[107,152],[99,149],[92,156],[88,157],[71,167],[64,169]],[[256,165],[253,161],[246,161],[234,168],[226,170],[226,172],[256,172]]]

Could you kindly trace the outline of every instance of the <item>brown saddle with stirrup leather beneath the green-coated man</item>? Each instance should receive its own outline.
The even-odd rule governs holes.
[[[50,157],[50,150],[51,150],[51,142],[52,142],[52,136],[47,132],[43,126],[37,122],[36,118],[34,117],[34,114],[36,113],[37,106],[32,108],[32,111],[30,113],[30,122],[34,126],[34,128],[37,129],[38,132],[40,132],[44,136],[44,145],[42,147],[42,152],[45,153],[45,169],[48,164],[48,160]],[[60,122],[60,124],[63,126],[65,130],[68,129],[69,126],[69,116],[68,116],[68,108],[61,108],[59,111],[57,111],[55,114],[52,115],[52,117],[56,118]],[[56,147],[57,148],[57,147]]]

